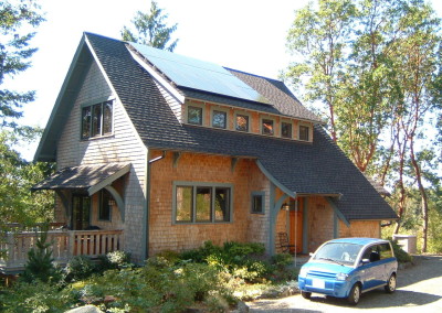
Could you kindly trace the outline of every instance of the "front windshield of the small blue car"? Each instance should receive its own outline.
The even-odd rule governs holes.
[[[316,251],[314,260],[325,260],[343,266],[352,266],[361,248],[361,245],[356,244],[328,242]]]

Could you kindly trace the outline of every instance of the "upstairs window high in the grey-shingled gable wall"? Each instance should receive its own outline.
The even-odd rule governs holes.
[[[113,129],[113,101],[82,108],[82,139],[110,134]]]

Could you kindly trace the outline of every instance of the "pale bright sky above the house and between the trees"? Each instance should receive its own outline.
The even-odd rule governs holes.
[[[177,23],[175,53],[234,69],[277,78],[291,56],[286,35],[295,10],[307,0],[157,0]],[[442,17],[442,1],[433,1]],[[147,12],[150,0],[39,0],[46,21],[36,29],[32,45],[39,51],[32,67],[6,87],[35,90],[36,100],[24,108],[23,125],[44,128],[83,32],[120,39],[137,11]],[[21,149],[33,159],[36,144]]]

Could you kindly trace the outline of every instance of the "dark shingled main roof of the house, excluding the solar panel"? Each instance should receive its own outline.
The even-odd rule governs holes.
[[[333,198],[333,204],[346,219],[397,218],[391,207],[362,173],[332,142],[322,126],[315,126],[314,142],[308,144],[251,133],[180,125],[157,88],[152,76],[133,58],[125,42],[90,33],[85,34],[85,39],[140,139],[148,148],[254,158],[264,171],[288,191],[305,195],[340,194],[339,198]],[[281,82],[233,69],[228,71],[260,94],[265,94],[270,101],[273,101],[271,109],[284,115],[308,115],[308,110],[301,106]],[[260,106],[261,109],[269,107],[266,104],[207,90],[194,90],[189,87],[180,87],[180,91],[187,96],[192,95],[197,99],[214,97],[224,101]],[[280,99],[283,100],[280,101]],[[275,105],[276,102],[283,105]],[[290,108],[292,105],[294,108]],[[51,129],[52,126],[49,125],[48,128]],[[46,131],[51,130],[46,129]],[[39,154],[36,158],[39,159]]]

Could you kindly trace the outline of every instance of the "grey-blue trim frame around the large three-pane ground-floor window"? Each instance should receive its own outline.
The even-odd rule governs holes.
[[[192,212],[191,212],[191,220],[190,222],[177,222],[177,187],[192,187]],[[211,188],[211,207],[210,222],[197,222],[197,203],[194,201],[197,194],[197,187],[210,187]],[[229,220],[215,220],[214,214],[214,195],[215,188],[229,188]],[[230,183],[208,183],[208,182],[183,182],[183,181],[173,181],[172,182],[172,225],[206,225],[206,224],[231,224],[233,223],[233,184]]]

